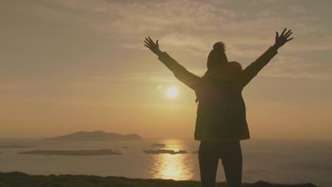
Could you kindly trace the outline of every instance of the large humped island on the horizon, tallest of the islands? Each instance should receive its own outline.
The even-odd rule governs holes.
[[[74,132],[69,135],[62,135],[58,137],[50,137],[46,138],[46,140],[65,140],[65,141],[118,141],[118,140],[128,140],[128,141],[138,141],[143,140],[137,134],[130,135],[120,135],[111,132],[104,132],[101,130],[93,131],[93,132]]]

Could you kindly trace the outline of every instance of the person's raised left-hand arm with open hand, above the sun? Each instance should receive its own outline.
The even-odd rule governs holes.
[[[191,72],[188,72],[187,69],[182,67],[179,63],[177,63],[176,60],[172,59],[170,55],[168,55],[166,52],[162,52],[159,49],[158,40],[156,42],[153,42],[150,37],[145,38],[145,47],[148,47],[155,55],[158,56],[158,59],[165,64],[165,66],[170,69],[175,77],[179,79],[179,81],[182,81],[182,83],[189,86],[191,89],[196,89],[199,83],[201,82],[201,77],[198,77],[195,74],[192,74]]]

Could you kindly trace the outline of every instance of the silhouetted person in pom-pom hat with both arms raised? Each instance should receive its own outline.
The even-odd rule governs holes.
[[[242,152],[240,140],[250,138],[245,118],[243,88],[260,69],[277,55],[277,50],[292,40],[291,30],[276,32],[275,45],[258,60],[242,69],[238,62],[228,62],[223,42],[216,42],[207,59],[208,70],[198,77],[177,63],[166,52],[159,50],[158,40],[145,38],[145,46],[158,55],[158,59],[175,77],[193,89],[199,102],[195,128],[195,140],[200,140],[199,168],[201,186],[214,187],[218,160],[221,159],[228,187],[240,187],[242,182]],[[289,39],[288,39],[289,38]]]

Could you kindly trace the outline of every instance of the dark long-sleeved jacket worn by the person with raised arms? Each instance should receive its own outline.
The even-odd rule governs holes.
[[[209,69],[204,77],[188,72],[166,52],[159,55],[175,77],[197,95],[195,140],[226,142],[250,138],[242,90],[275,55],[277,49],[270,47],[245,69],[238,62],[227,62]]]

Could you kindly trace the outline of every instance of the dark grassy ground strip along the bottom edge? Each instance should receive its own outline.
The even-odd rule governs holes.
[[[0,172],[0,186],[126,186],[126,187],[200,187],[200,181],[174,181],[165,179],[128,179],[122,176],[92,175],[28,175],[21,172]],[[216,183],[218,187],[226,187],[226,182]],[[317,187],[312,183],[273,184],[265,181],[242,183],[242,187]]]

